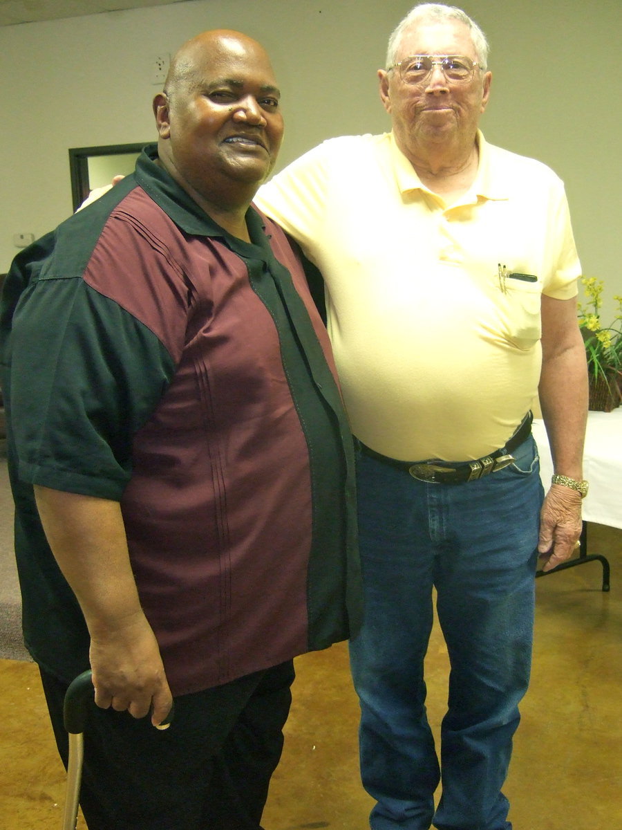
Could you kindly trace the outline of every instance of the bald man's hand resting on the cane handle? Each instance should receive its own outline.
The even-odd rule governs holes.
[[[154,726],[166,719],[173,696],[158,642],[142,613],[91,631],[90,666],[97,706],[127,710],[134,718],[151,712]]]

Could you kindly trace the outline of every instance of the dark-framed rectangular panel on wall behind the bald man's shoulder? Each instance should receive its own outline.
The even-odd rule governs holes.
[[[71,148],[69,170],[74,211],[80,207],[93,188],[109,184],[113,176],[132,173],[136,158],[145,144],[150,142]]]

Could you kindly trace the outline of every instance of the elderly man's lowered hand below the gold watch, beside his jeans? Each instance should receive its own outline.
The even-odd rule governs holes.
[[[540,513],[538,553],[542,570],[550,571],[570,559],[581,536],[581,494],[570,487],[553,484]]]

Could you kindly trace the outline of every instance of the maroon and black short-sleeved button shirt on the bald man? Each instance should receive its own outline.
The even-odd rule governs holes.
[[[24,636],[69,681],[88,632],[32,485],[119,500],[174,694],[328,647],[361,613],[352,438],[304,269],[154,163],[23,251],[0,339]]]

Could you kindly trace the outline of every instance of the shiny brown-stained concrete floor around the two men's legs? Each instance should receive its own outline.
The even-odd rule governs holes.
[[[532,686],[505,789],[514,830],[622,828],[622,531],[590,525],[589,544],[610,559],[610,593],[596,562],[537,580]],[[347,649],[301,657],[297,672],[264,826],[363,830],[372,801],[358,778]],[[438,733],[447,676],[438,629],[427,675]],[[0,661],[0,696],[0,830],[60,830],[65,774],[36,667]]]

